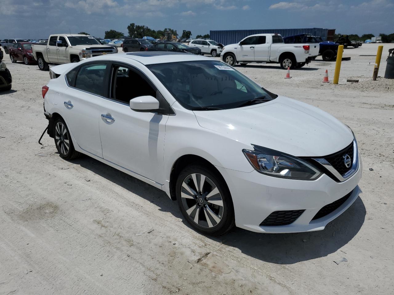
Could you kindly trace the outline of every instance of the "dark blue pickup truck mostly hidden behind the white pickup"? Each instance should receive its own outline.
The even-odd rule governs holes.
[[[319,55],[322,55],[323,61],[332,61],[338,51],[338,43],[323,41],[321,37],[315,37],[309,34],[299,34],[283,38],[285,43],[319,43]]]

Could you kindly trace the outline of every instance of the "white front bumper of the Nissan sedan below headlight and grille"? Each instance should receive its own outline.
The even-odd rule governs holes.
[[[314,181],[280,179],[252,171],[250,173],[216,167],[229,186],[234,203],[237,227],[253,232],[289,233],[323,230],[327,223],[342,214],[357,199],[361,190],[362,164],[353,176],[336,182],[323,174]],[[349,197],[329,214],[312,220],[324,206]],[[278,226],[260,226],[275,211],[305,210],[292,223]]]

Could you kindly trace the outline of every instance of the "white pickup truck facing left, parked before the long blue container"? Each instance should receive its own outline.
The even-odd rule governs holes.
[[[319,55],[319,43],[284,44],[279,34],[256,34],[239,43],[226,45],[222,60],[234,66],[236,63],[279,63],[282,69],[302,67]]]

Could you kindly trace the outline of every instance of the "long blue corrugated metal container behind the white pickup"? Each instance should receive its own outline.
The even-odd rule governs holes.
[[[225,31],[210,31],[210,38],[223,45],[234,44],[241,41],[243,38],[264,33],[278,33],[282,37],[294,36],[299,34],[311,34],[322,37],[323,41],[332,40],[335,30],[322,28],[306,28],[306,29],[272,29],[272,30],[225,30]]]

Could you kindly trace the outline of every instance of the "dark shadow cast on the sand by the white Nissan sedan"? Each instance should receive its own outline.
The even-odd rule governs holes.
[[[72,163],[154,203],[158,210],[182,219],[184,225],[192,229],[182,216],[177,202],[171,201],[162,190],[87,156],[73,160]],[[264,262],[294,264],[338,251],[359,232],[365,215],[364,203],[358,197],[348,210],[331,221],[324,230],[293,234],[261,234],[235,228],[223,236],[206,238],[237,248],[243,254]]]

